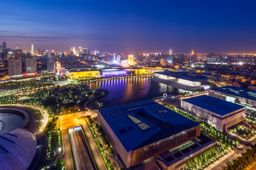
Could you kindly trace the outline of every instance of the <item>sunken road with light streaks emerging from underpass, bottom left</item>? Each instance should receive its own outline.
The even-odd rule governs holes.
[[[96,170],[96,166],[94,165],[94,162],[93,162],[93,157],[91,156],[89,147],[84,138],[84,134],[83,134],[81,127],[74,128],[74,131],[75,131],[78,147],[81,150],[81,155],[82,155],[82,159],[84,161],[85,169],[86,170]]]

